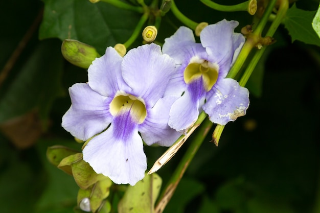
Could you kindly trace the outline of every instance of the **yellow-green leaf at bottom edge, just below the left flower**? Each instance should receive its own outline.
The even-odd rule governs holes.
[[[119,213],[152,213],[162,179],[157,174],[146,175],[134,186],[128,186],[118,204]]]

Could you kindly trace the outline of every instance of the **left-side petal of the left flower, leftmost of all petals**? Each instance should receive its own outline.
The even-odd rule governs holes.
[[[101,96],[86,83],[69,88],[71,107],[62,117],[62,127],[73,136],[86,140],[102,132],[112,121],[111,99]]]

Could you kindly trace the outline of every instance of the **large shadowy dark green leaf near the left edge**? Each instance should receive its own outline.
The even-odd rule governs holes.
[[[0,100],[0,123],[34,108],[38,109],[40,119],[47,121],[53,101],[63,94],[60,45],[60,41],[48,40],[40,42],[35,48]]]

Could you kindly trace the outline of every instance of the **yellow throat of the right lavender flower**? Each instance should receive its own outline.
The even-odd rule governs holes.
[[[202,77],[205,91],[209,91],[218,79],[219,67],[208,61],[202,63],[189,63],[184,72],[187,84]]]

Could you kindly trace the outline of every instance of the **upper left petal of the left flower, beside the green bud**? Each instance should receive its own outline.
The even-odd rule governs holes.
[[[105,55],[96,58],[88,68],[89,86],[103,96],[114,96],[117,91],[130,92],[130,88],[124,82],[121,72],[123,58],[119,53],[109,47]]]

